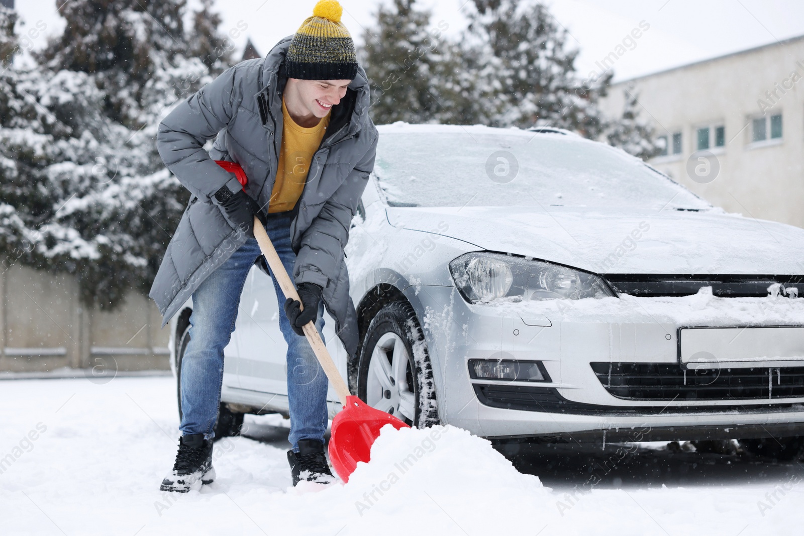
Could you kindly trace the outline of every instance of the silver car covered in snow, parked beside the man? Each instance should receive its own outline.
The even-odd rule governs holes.
[[[802,229],[726,214],[560,129],[379,133],[347,245],[359,355],[347,360],[329,317],[324,332],[367,403],[500,443],[798,450]],[[171,323],[174,370],[191,307]],[[218,435],[247,412],[286,413],[279,314],[255,266],[224,352]]]

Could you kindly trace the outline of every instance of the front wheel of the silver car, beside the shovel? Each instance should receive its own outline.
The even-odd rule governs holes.
[[[368,325],[360,352],[358,396],[416,428],[439,423],[425,334],[407,302],[386,305]]]

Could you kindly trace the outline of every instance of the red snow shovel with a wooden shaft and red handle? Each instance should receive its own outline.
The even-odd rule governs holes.
[[[241,185],[246,185],[248,178],[246,178],[246,174],[238,164],[223,161],[215,162],[223,167],[224,170],[234,173]],[[265,227],[256,218],[254,218],[254,238],[260,244],[260,250],[265,256],[265,260],[268,261],[269,268],[277,279],[285,298],[293,298],[293,300],[301,304],[296,287],[293,286],[293,281],[290,280],[288,272],[285,271],[285,266],[279,259],[277,250],[273,248],[273,243],[271,243],[268,233],[265,232]],[[302,307],[301,309],[304,308]],[[386,424],[391,424],[397,430],[410,427],[393,415],[389,415],[385,411],[379,411],[367,405],[355,395],[351,395],[349,387],[341,378],[341,374],[332,361],[330,353],[326,350],[326,346],[321,340],[321,335],[318,334],[318,329],[315,329],[314,322],[310,321],[302,330],[343,405],[343,410],[338,411],[338,414],[332,419],[332,436],[330,437],[329,449],[330,461],[335,468],[335,473],[338,473],[338,477],[341,477],[344,482],[348,482],[349,475],[357,467],[357,462],[367,462],[370,459],[371,444],[379,436],[380,428],[383,428]]]

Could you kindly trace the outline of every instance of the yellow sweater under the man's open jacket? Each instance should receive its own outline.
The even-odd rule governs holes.
[[[282,117],[285,120],[282,127],[282,148],[279,153],[277,180],[271,190],[269,213],[291,211],[296,206],[307,181],[310,160],[321,145],[326,125],[330,123],[330,115],[331,111],[318,121],[318,125],[305,129],[293,121],[288,108],[285,108],[285,99],[282,99]]]

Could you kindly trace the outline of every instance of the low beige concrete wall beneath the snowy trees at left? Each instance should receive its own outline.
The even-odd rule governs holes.
[[[0,276],[0,370],[169,369],[170,333],[160,324],[153,301],[140,293],[104,312],[80,303],[72,276],[18,265]]]

